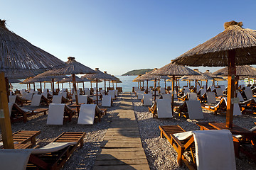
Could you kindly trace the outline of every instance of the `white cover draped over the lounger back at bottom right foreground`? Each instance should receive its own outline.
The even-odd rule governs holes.
[[[236,169],[233,137],[229,130],[195,130],[176,133],[178,140],[193,135],[198,170]]]

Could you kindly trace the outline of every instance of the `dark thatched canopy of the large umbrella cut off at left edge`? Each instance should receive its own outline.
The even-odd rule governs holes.
[[[6,28],[6,21],[0,20],[0,72],[17,69],[43,72],[63,66],[65,62],[11,32]],[[23,77],[28,76],[23,74]]]

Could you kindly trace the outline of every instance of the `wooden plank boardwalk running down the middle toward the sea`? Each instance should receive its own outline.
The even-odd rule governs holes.
[[[131,94],[122,94],[110,128],[97,154],[93,169],[149,169],[138,123],[134,115]]]

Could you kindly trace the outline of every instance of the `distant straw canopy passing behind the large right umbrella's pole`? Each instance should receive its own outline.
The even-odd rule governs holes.
[[[217,76],[228,76],[228,67],[213,72]],[[256,68],[249,65],[237,66],[236,75],[243,77],[256,77]]]

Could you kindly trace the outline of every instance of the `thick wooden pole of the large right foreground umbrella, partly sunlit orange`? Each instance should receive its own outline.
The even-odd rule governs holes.
[[[235,50],[228,50],[228,98],[227,98],[227,116],[226,128],[233,127],[233,102],[231,99],[235,96]]]

